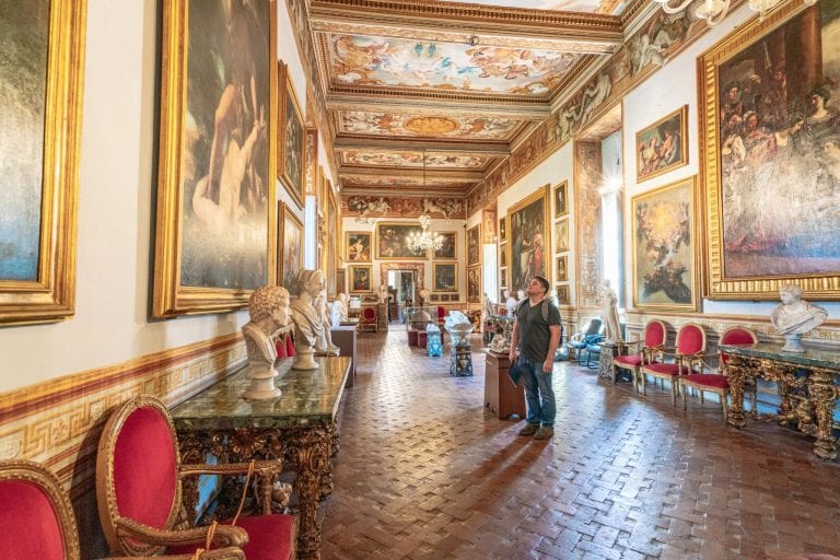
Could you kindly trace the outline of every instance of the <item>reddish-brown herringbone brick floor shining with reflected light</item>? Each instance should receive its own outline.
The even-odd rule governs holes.
[[[477,339],[476,339],[477,342]],[[840,465],[774,424],[726,428],[698,399],[555,370],[552,441],[483,407],[474,377],[409,348],[359,338],[345,393],[330,559],[777,559],[840,551]]]

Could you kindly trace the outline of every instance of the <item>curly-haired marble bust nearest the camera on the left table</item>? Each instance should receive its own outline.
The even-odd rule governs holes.
[[[275,387],[275,362],[277,361],[277,336],[289,328],[289,291],[280,285],[264,285],[254,290],[248,300],[250,320],[242,327],[245,348],[248,353],[246,377],[250,386],[245,398],[269,399],[279,397]]]

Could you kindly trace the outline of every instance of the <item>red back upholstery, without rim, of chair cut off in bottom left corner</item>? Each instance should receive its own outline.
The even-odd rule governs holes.
[[[24,480],[0,482],[0,557],[3,560],[63,560],[61,527],[47,494]]]

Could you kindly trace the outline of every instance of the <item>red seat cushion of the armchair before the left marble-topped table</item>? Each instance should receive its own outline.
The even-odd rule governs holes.
[[[230,525],[230,522],[223,522]],[[243,551],[248,560],[289,560],[292,557],[293,515],[257,515],[240,517],[237,527],[248,534],[248,544]],[[201,545],[203,547],[203,545]],[[191,555],[196,545],[184,545],[166,549],[171,555]]]

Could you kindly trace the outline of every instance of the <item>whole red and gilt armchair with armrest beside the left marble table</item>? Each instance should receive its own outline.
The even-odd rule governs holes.
[[[205,548],[210,527],[183,528],[191,514],[182,505],[182,479],[244,475],[248,468],[247,464],[180,465],[166,407],[153,397],[130,399],[105,423],[96,458],[100,521],[110,550],[135,557]],[[271,514],[272,481],[281,468],[279,460],[256,463],[254,476],[259,477],[261,491],[255,498],[262,515],[240,517],[235,527],[223,522],[214,529],[211,549],[238,547],[248,560],[294,558],[295,517]]]

